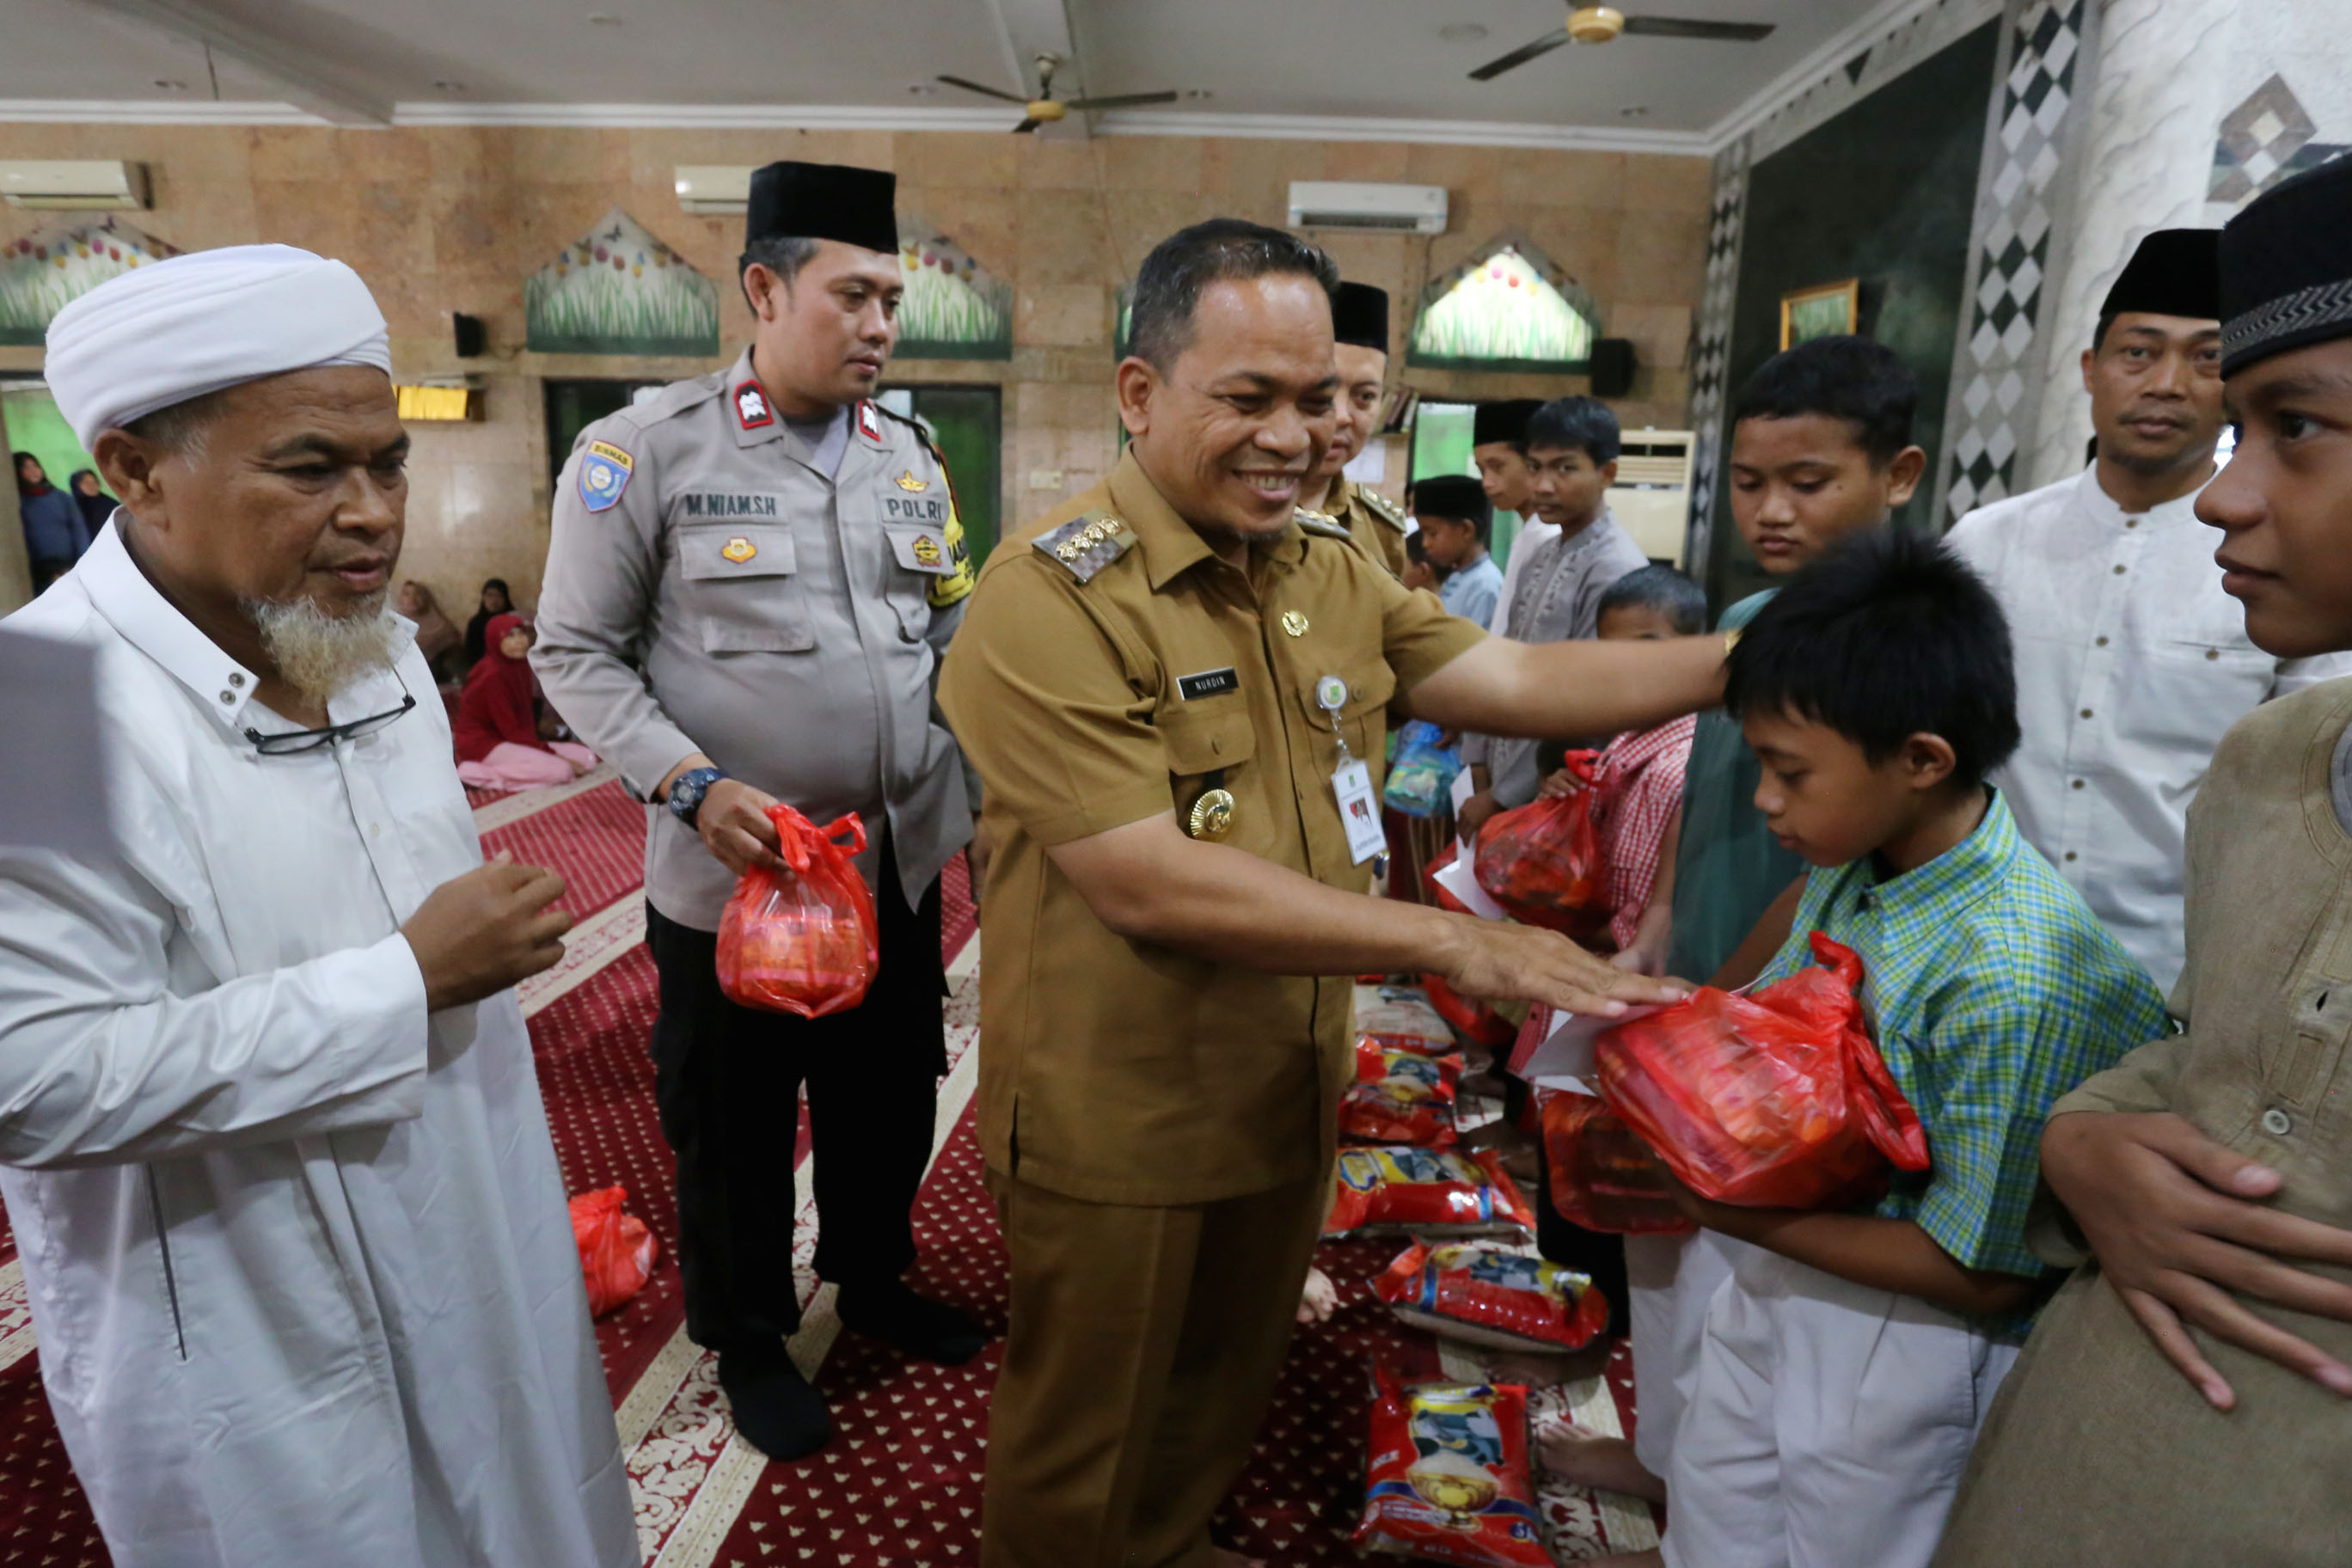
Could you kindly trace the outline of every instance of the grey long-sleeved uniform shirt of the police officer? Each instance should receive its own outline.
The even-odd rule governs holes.
[[[908,903],[971,837],[931,686],[971,562],[948,475],[880,404],[849,409],[828,477],[769,407],[750,350],[588,425],[555,487],[532,668],[647,795],[694,752],[816,825],[889,823]],[[717,931],[734,875],[659,804],[644,889]]]

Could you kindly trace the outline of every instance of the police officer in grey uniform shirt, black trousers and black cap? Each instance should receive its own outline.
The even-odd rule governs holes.
[[[555,496],[532,665],[652,802],[647,943],[661,1131],[677,1157],[687,1333],[720,1352],[736,1429],[774,1458],[830,1436],[783,1340],[802,1084],[840,1316],[964,1361],[976,1324],[915,1295],[910,1206],[931,1152],[941,1039],[938,872],[974,795],[931,701],[971,592],[948,475],[873,402],[896,343],[896,181],[776,162],[753,176],[753,346],[581,433]],[[717,926],[776,860],[767,806],[868,823],[880,907],[866,1001],[795,1018],[727,1001]]]

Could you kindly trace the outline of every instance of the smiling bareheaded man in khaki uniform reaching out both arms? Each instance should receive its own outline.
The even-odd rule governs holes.
[[[1392,710],[1653,724],[1715,701],[1722,644],[1489,639],[1296,512],[1334,425],[1331,284],[1315,247],[1230,219],[1145,259],[1129,451],[995,552],[941,679],[1000,844],[990,1568],[1211,1561],[1324,1213],[1348,976],[1583,1011],[1675,994],[1552,931],[1362,891]]]

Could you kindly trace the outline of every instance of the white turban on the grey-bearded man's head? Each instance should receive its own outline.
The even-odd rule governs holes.
[[[82,449],[101,430],[205,393],[393,355],[374,294],[341,261],[228,244],[101,282],[49,322],[42,376]]]

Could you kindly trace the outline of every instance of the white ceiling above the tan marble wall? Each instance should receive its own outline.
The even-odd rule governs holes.
[[[1176,87],[1127,129],[1256,115],[1705,134],[1891,0],[1621,0],[1639,14],[1773,21],[1755,45],[1621,38],[1494,80],[1468,71],[1564,19],[1562,0],[0,0],[0,120],[301,103],[332,118],[449,120],[501,106],[807,106],[910,127],[1018,118],[936,73],[1028,92]],[[607,21],[590,21],[604,16]],[[1456,40],[1439,38],[1454,31]],[[1479,38],[1461,38],[1484,28]],[[200,38],[214,38],[207,56]],[[1042,42],[1040,42],[1042,40]],[[1818,66],[1818,61],[1816,61]],[[358,106],[358,110],[353,110]],[[45,113],[47,110],[47,113]],[[136,108],[132,108],[136,113]],[[1105,129],[1120,129],[1105,118]],[[1216,125],[1216,129],[1240,129]]]

